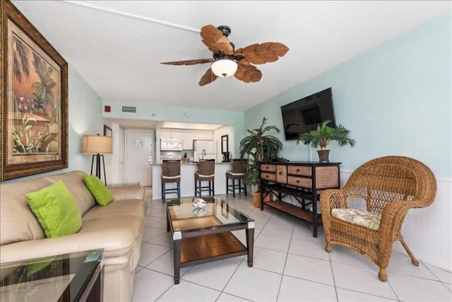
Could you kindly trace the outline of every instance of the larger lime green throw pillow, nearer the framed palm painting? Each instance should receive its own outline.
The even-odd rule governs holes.
[[[82,227],[82,217],[78,212],[76,200],[63,181],[59,180],[25,196],[44,229],[45,236],[75,234]]]

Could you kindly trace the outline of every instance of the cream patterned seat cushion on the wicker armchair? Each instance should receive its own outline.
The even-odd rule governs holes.
[[[350,222],[351,224],[357,224],[367,229],[373,229],[378,231],[380,227],[381,214],[367,212],[355,209],[333,209],[331,215],[344,222]]]

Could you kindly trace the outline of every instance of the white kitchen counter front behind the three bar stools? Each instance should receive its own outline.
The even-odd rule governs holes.
[[[231,162],[215,162],[215,195],[226,194],[226,171],[230,171],[231,169]],[[181,163],[181,197],[195,195],[194,174],[196,171],[198,171],[198,162]],[[162,188],[162,182],[160,180],[161,174],[162,164],[153,164],[153,200],[162,198],[160,193]],[[205,185],[205,183],[203,183],[203,185]],[[169,186],[175,187],[176,184],[169,183],[167,184],[167,187]],[[167,194],[167,198],[177,198],[177,194]]]

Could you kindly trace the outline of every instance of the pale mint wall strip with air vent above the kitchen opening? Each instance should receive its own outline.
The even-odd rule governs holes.
[[[123,102],[110,99],[104,99],[103,104],[112,107],[111,112],[103,112],[105,118],[178,121],[184,123],[216,123],[234,126],[234,154],[239,154],[237,140],[242,139],[244,136],[244,112],[169,107],[145,104],[143,102]],[[136,113],[121,112],[123,106],[136,107]],[[186,113],[189,114],[189,117],[185,116]]]

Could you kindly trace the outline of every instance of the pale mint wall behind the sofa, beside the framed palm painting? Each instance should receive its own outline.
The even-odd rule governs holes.
[[[81,140],[84,134],[103,133],[102,100],[93,89],[69,66],[69,167],[57,171],[36,174],[20,179],[11,179],[4,183],[36,179],[45,175],[59,174],[66,171],[82,170],[90,173],[91,157],[81,153]]]

